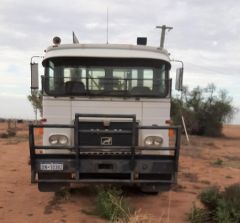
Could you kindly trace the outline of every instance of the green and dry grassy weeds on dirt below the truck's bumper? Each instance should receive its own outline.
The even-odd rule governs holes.
[[[55,193],[54,200],[69,201],[76,193],[81,193],[82,188],[62,189]],[[88,185],[88,194],[93,196],[93,206],[90,209],[83,209],[87,215],[98,216],[107,222],[112,223],[165,223],[161,217],[156,221],[151,214],[146,214],[141,209],[133,207],[124,194],[124,191],[112,185]]]

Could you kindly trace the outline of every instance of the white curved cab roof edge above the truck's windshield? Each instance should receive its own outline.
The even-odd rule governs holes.
[[[167,50],[142,45],[60,44],[48,47],[45,52],[43,62],[56,57],[96,57],[157,59],[170,63]]]

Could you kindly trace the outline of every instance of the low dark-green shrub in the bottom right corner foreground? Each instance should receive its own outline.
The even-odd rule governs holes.
[[[188,214],[190,222],[240,222],[240,184],[231,185],[223,192],[218,187],[208,188],[200,193],[199,198],[205,208],[196,208],[194,205]]]

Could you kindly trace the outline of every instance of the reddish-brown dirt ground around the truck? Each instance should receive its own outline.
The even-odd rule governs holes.
[[[0,132],[6,129],[0,124]],[[170,192],[146,195],[131,189],[131,206],[151,216],[151,222],[187,222],[197,194],[210,185],[221,188],[240,182],[240,126],[225,126],[225,137],[191,136],[191,145],[182,140],[178,185]],[[92,210],[95,197],[86,187],[67,200],[54,193],[41,193],[30,183],[26,126],[18,125],[17,136],[0,139],[0,222],[1,223],[100,223]],[[217,165],[218,160],[222,165]]]

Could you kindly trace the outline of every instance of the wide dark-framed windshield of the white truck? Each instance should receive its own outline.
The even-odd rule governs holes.
[[[169,68],[165,63],[126,60],[49,60],[44,91],[53,96],[167,96]]]

